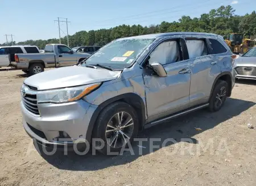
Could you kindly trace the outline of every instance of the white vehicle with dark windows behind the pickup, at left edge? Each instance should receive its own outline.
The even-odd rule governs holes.
[[[39,48],[36,46],[0,47],[0,67],[10,66],[10,60],[14,61],[15,53],[39,53]]]

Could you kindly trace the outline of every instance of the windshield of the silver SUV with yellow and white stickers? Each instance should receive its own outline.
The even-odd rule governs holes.
[[[123,69],[153,42],[154,39],[119,39],[109,43],[90,56],[85,62],[89,65],[105,65],[113,69]],[[86,64],[82,64],[86,67]]]

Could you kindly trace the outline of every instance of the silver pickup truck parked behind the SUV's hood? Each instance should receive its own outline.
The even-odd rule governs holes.
[[[77,53],[64,44],[47,44],[45,53],[15,54],[15,61],[10,64],[23,72],[35,75],[44,68],[67,67],[79,63],[90,56],[89,53]]]

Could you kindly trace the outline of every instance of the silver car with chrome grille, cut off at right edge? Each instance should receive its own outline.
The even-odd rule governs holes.
[[[236,78],[256,80],[256,47],[235,60]]]

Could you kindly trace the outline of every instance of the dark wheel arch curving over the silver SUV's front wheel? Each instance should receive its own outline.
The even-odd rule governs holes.
[[[139,119],[139,130],[143,129],[143,125],[146,121],[146,116],[145,116],[145,105],[140,96],[135,93],[125,93],[121,94],[119,96],[110,98],[109,100],[106,100],[102,102],[100,105],[98,105],[97,109],[94,111],[92,118],[90,119],[88,129],[86,131],[86,140],[90,142],[92,138],[92,133],[93,133],[93,128],[94,124],[97,121],[98,115],[101,113],[101,111],[106,108],[106,106],[113,104],[114,102],[117,101],[122,101],[126,102],[127,104],[133,106],[133,108],[136,110],[136,113],[138,114],[138,119]]]

